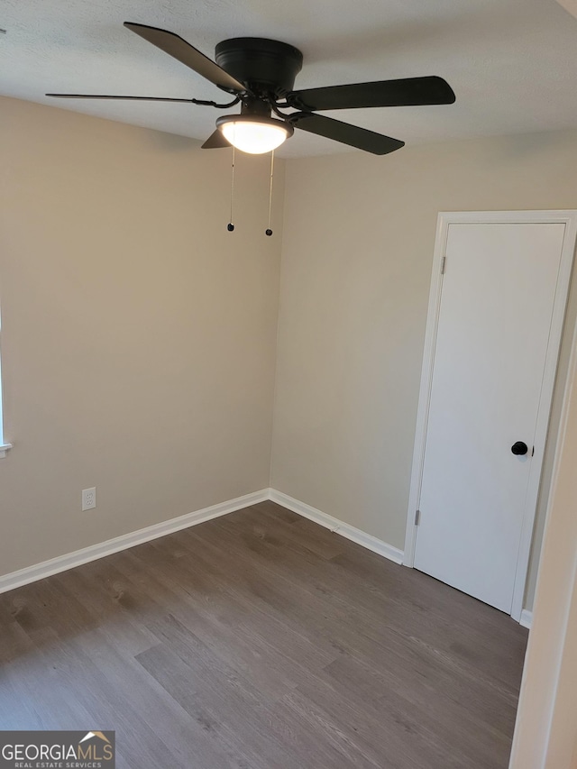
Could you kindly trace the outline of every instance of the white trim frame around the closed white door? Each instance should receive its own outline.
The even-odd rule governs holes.
[[[559,211],[442,211],[437,217],[435,254],[433,257],[433,272],[429,293],[429,307],[426,319],[425,350],[421,371],[421,385],[418,398],[417,426],[413,450],[413,466],[411,485],[408,497],[407,534],[405,537],[405,553],[403,565],[413,568],[415,565],[415,546],[417,543],[417,509],[421,496],[423,467],[425,464],[426,429],[431,402],[431,387],[433,384],[433,366],[435,363],[436,336],[441,311],[441,296],[443,291],[444,255],[450,224],[565,224],[561,263],[557,278],[554,297],[551,332],[545,358],[545,374],[539,408],[537,412],[535,433],[536,462],[531,462],[527,485],[527,498],[521,528],[521,540],[517,556],[515,587],[513,590],[513,605],[511,617],[521,619],[533,527],[536,516],[536,505],[539,494],[539,483],[543,470],[545,440],[554,394],[555,375],[559,360],[563,322],[569,285],[571,281],[573,255],[577,243],[577,210]]]

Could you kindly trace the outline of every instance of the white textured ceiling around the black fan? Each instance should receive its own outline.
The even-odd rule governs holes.
[[[0,94],[206,139],[222,114],[210,107],[43,96],[222,96],[124,21],[211,58],[229,37],[292,43],[305,57],[296,87],[445,78],[455,105],[325,113],[408,144],[577,127],[577,20],[555,0],[0,0]],[[338,151],[350,148],[297,131],[279,154]]]

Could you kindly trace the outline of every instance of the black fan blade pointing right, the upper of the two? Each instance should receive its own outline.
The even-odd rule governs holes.
[[[356,109],[373,106],[414,106],[453,104],[453,88],[435,75],[426,78],[378,80],[292,91],[287,104],[296,109]]]

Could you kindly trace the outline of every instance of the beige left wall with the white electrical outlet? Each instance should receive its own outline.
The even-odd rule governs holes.
[[[0,574],[269,485],[283,164],[0,100]],[[97,508],[80,512],[96,486]]]

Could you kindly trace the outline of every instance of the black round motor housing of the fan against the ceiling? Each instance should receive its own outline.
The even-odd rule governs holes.
[[[215,60],[229,75],[256,95],[277,98],[292,91],[302,69],[303,55],[292,45],[259,37],[237,37],[219,42]]]

